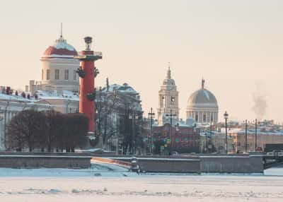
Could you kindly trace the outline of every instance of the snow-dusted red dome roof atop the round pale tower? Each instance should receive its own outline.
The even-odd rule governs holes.
[[[45,58],[73,58],[76,55],[78,55],[78,52],[76,52],[76,49],[70,44],[67,44],[67,40],[64,40],[64,38],[61,36],[59,40],[56,40],[54,44],[52,44],[50,47],[48,47],[45,50],[42,56],[42,59],[45,59]]]

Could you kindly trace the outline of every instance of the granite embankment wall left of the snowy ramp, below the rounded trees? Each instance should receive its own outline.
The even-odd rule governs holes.
[[[0,153],[0,167],[11,168],[88,168],[89,153]]]

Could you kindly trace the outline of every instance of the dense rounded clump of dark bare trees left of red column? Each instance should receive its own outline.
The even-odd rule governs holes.
[[[74,152],[74,148],[86,145],[87,131],[88,118],[83,114],[28,109],[18,113],[8,125],[8,149]]]

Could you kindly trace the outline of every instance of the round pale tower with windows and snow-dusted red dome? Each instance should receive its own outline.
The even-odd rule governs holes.
[[[40,61],[42,61],[41,81],[30,81],[29,89],[36,90],[63,90],[79,92],[79,76],[76,69],[79,68],[79,60],[74,59],[78,55],[76,49],[67,43],[61,35],[58,40],[48,47]]]

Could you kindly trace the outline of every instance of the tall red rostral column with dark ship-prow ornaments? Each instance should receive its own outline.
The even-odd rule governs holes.
[[[102,59],[101,52],[93,52],[91,50],[92,37],[84,37],[86,49],[79,56],[74,57],[81,61],[81,67],[78,69],[80,76],[80,93],[79,93],[79,112],[86,114],[88,117],[88,135],[93,136],[95,132],[95,105],[96,97],[94,80],[98,70],[94,66],[94,61]]]

